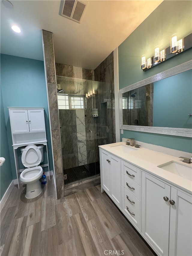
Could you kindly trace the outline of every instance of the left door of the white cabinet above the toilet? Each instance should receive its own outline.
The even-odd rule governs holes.
[[[10,110],[10,124],[12,133],[29,132],[27,110]]]

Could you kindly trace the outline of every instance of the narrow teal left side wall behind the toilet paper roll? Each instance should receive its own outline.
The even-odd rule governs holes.
[[[1,92],[0,92],[1,93]],[[3,98],[0,98],[0,156],[5,158],[5,162],[0,166],[0,200],[12,181],[9,146],[7,141],[7,130],[3,109]]]

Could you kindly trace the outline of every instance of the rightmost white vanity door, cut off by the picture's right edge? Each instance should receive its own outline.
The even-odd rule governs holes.
[[[169,255],[192,255],[192,197],[171,188]]]

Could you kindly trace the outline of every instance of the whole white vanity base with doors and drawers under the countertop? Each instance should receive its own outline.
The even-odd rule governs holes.
[[[99,148],[106,191],[158,255],[192,255],[192,196]],[[121,178],[120,178],[121,177]]]

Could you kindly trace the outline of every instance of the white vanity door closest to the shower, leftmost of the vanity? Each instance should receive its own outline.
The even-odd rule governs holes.
[[[110,165],[109,165],[109,154],[100,150],[100,168],[101,168],[101,188],[110,194]]]

